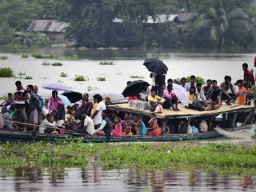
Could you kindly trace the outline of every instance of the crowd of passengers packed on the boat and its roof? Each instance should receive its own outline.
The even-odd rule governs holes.
[[[206,86],[202,86],[201,83],[196,82],[194,75],[190,76],[190,82],[182,78],[179,84],[187,91],[189,100],[187,108],[200,111],[217,110],[223,102],[226,102],[226,105],[236,100],[239,105],[250,103],[256,95],[254,74],[248,70],[246,63],[242,65],[242,69],[243,80],[234,83],[238,86],[238,90],[235,89],[228,75],[220,86],[216,80],[210,79],[206,81]],[[38,86],[28,85],[25,88],[20,81],[15,82],[15,93],[9,93],[6,102],[1,104],[2,118],[5,119],[5,126],[8,129],[39,134],[63,134],[64,130],[70,130],[89,136],[105,135],[108,139],[123,135],[161,135],[163,130],[154,112],[161,112],[159,110],[161,107],[180,110],[179,99],[173,88],[174,83],[178,82],[170,78],[165,83],[165,75],[153,73],[150,74],[150,78],[152,78],[151,87],[145,86],[138,96],[128,98],[129,101],[148,102],[153,113],[146,122],[145,118],[135,114],[125,114],[123,119],[118,114],[110,114],[106,110],[106,105],[111,103],[110,97],[103,99],[100,94],[94,94],[93,101],[90,101],[89,94],[85,93],[82,95],[82,102],[65,107],[63,95],[58,95],[57,90],[53,90],[51,97],[46,100],[38,94]],[[248,100],[249,102],[246,102]],[[47,110],[44,106],[47,106]],[[186,119],[178,122],[178,133],[192,132],[194,127],[185,125]],[[204,119],[198,122],[198,126],[202,131],[208,129]]]

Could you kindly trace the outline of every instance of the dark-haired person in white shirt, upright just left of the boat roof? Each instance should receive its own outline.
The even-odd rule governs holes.
[[[94,120],[94,128],[97,130],[102,124],[102,111],[106,110],[106,105],[102,101],[103,98],[100,94],[94,95],[94,101],[98,103],[97,109],[94,111],[92,115],[92,119]]]

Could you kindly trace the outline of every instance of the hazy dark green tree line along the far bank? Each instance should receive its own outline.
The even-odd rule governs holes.
[[[198,16],[182,33],[174,22],[146,24],[175,12]],[[253,49],[255,14],[254,0],[0,0],[0,44],[35,19],[56,19],[70,22],[66,37],[76,46]]]

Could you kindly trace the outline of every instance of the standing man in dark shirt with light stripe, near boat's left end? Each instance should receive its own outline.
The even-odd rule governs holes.
[[[14,94],[15,99],[15,116],[14,121],[15,122],[26,122],[26,100],[29,98],[29,94],[25,88],[22,86],[22,82],[17,81],[15,82],[16,85],[16,92]],[[21,128],[20,130],[23,130],[26,132],[26,126],[22,124],[18,124],[18,127]]]

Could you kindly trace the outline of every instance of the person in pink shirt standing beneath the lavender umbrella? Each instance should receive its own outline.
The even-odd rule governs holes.
[[[65,119],[65,108],[64,108],[64,101],[62,98],[58,97],[58,91],[53,90],[52,97],[49,98],[48,102],[48,112],[52,114],[54,120],[58,122],[58,126],[62,126],[62,122]]]

